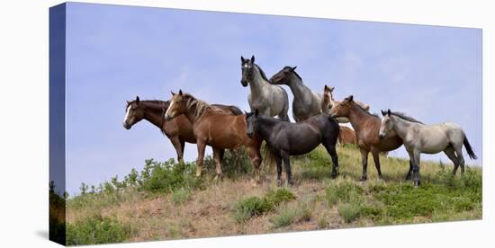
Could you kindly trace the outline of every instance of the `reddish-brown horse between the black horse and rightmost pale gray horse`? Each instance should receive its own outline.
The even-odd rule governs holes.
[[[329,111],[333,118],[345,117],[350,122],[356,131],[357,146],[361,152],[363,160],[363,176],[361,181],[366,181],[368,178],[368,155],[371,152],[374,159],[374,166],[380,179],[383,178],[382,170],[380,169],[380,152],[389,152],[402,146],[402,139],[396,132],[391,131],[386,136],[380,138],[378,133],[382,120],[375,114],[365,111],[359,104],[354,101],[352,95],[348,96],[344,101],[335,104]],[[412,164],[410,161],[410,171],[406,176],[406,180],[410,179]]]

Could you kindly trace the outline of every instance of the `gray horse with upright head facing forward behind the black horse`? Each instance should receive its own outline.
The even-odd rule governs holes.
[[[242,66],[242,86],[249,87],[251,92],[247,96],[247,102],[251,111],[258,110],[264,116],[274,117],[289,121],[289,97],[285,90],[277,85],[268,84],[265,73],[257,64],[255,57],[246,59],[240,57]]]

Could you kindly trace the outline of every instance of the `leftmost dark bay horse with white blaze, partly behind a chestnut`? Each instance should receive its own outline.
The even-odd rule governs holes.
[[[164,120],[164,112],[169,105],[170,101],[140,101],[139,96],[137,96],[136,100],[127,101],[122,125],[124,128],[130,129],[139,121],[148,120],[170,139],[170,142],[172,142],[175,152],[177,153],[177,161],[181,161],[184,158],[185,142],[195,144],[196,137],[194,137],[193,125],[184,115],[180,115],[174,120]],[[221,104],[212,104],[212,106],[226,114],[242,114],[242,111],[236,106]]]

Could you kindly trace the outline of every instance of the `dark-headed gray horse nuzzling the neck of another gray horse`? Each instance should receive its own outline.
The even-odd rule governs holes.
[[[302,78],[295,72],[297,66],[285,66],[270,78],[270,84],[285,84],[293,92],[293,119],[295,122],[308,120],[321,113],[321,95],[302,84]]]

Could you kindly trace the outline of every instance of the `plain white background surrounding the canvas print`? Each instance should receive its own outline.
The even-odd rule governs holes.
[[[88,2],[88,1],[80,1]],[[97,1],[333,19],[483,29],[483,220],[119,244],[120,247],[493,247],[495,7],[491,1]],[[48,241],[49,6],[3,1],[0,7],[0,247],[55,247]],[[364,40],[365,42],[365,40]],[[459,104],[469,99],[459,99]],[[491,112],[490,112],[491,111]],[[489,192],[491,192],[489,194]],[[111,246],[111,245],[108,245]],[[113,246],[113,245],[112,245]]]

